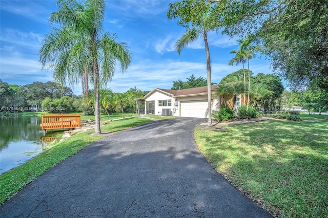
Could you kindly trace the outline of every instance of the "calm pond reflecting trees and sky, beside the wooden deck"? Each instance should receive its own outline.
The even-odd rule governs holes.
[[[0,117],[0,174],[42,152],[40,123],[41,117]]]

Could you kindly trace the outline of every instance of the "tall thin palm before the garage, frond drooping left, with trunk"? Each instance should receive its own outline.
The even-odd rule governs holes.
[[[210,29],[207,29],[204,25],[199,26],[199,28],[188,29],[185,34],[181,36],[176,42],[176,50],[180,55],[181,50],[190,45],[192,41],[195,41],[199,37],[203,37],[205,43],[206,51],[206,71],[207,71],[207,97],[208,97],[208,108],[209,108],[209,121],[208,126],[212,125],[212,81],[211,81],[211,57],[209,43],[207,40],[208,32]]]

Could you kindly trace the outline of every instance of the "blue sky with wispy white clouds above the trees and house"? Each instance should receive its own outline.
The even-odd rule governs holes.
[[[108,88],[126,92],[136,86],[142,91],[154,88],[171,89],[174,80],[186,81],[192,74],[206,78],[206,54],[202,39],[178,55],[175,42],[185,29],[177,20],[169,20],[167,0],[107,1],[104,30],[118,35],[118,42],[127,42],[132,63],[122,74],[119,67]],[[0,1],[0,79],[9,84],[24,85],[34,81],[53,81],[51,71],[41,70],[38,51],[44,36],[51,30],[49,14],[57,11],[57,1]],[[212,82],[241,69],[229,66],[238,49],[236,40],[227,35],[211,33],[209,46],[212,61]],[[272,73],[270,63],[262,56],[251,60],[257,73]],[[71,87],[81,94],[80,84]]]

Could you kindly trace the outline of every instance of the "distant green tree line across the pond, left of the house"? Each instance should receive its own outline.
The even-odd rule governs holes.
[[[33,82],[26,85],[8,84],[0,80],[0,107],[2,111],[45,111],[51,113],[78,112],[95,114],[94,90],[89,96],[76,96],[73,91],[59,83]],[[149,91],[141,91],[135,86],[125,93],[114,93],[110,89],[100,90],[100,113],[135,113],[136,98],[142,98]],[[15,110],[19,108],[19,110]],[[11,110],[10,110],[11,109]]]

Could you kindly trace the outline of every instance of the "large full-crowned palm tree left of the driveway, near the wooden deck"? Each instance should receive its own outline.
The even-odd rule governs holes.
[[[111,81],[116,62],[125,72],[131,63],[127,44],[116,42],[116,34],[103,32],[104,0],[59,0],[59,9],[50,14],[53,27],[45,36],[39,51],[42,67],[54,69],[54,80],[61,84],[76,84],[85,72],[92,70],[95,98],[95,133],[100,134],[100,87]]]

